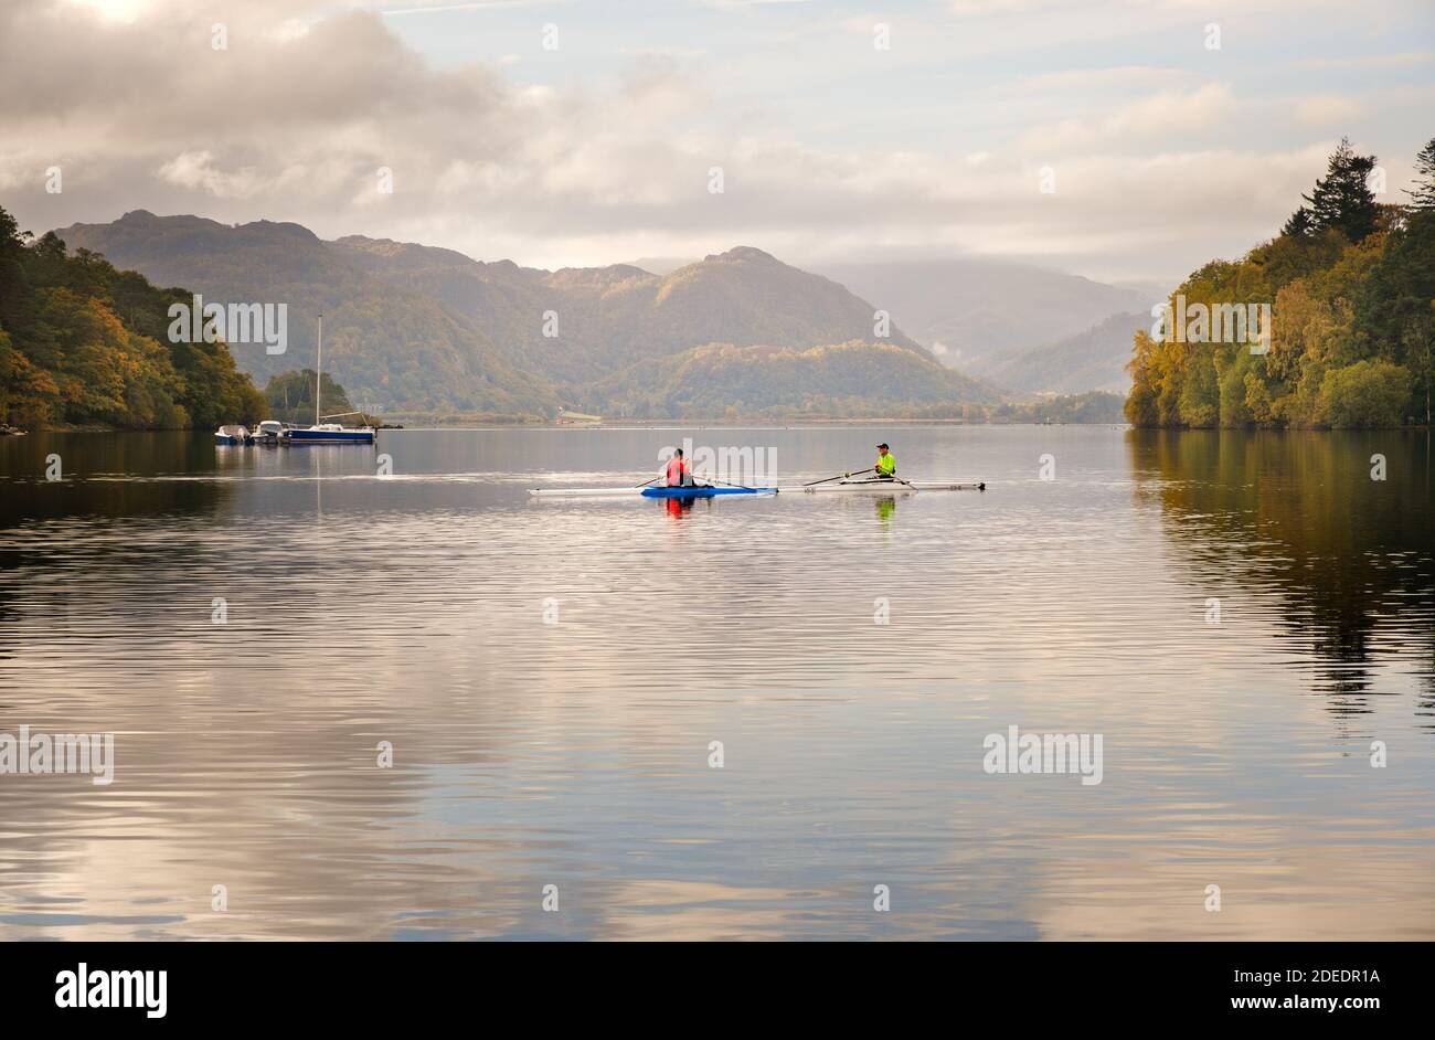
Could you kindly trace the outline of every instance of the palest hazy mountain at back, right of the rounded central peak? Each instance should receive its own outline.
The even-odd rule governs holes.
[[[887,310],[944,364],[993,382],[1019,353],[1076,336],[1114,314],[1147,313],[1157,301],[1144,288],[994,260],[827,264],[819,270]],[[1128,341],[1128,354],[1129,347]]]

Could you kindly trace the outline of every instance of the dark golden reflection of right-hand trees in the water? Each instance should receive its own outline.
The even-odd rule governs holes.
[[[1426,661],[1435,699],[1435,491],[1428,432],[1326,436],[1131,432],[1138,498],[1204,582],[1221,574],[1279,605],[1280,647],[1309,651],[1313,689],[1359,714],[1380,646]],[[1383,458],[1385,479],[1380,473]]]

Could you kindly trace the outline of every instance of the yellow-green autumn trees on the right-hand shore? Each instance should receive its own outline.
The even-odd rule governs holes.
[[[1376,175],[1376,158],[1342,141],[1276,238],[1177,287],[1167,311],[1175,327],[1161,318],[1135,334],[1126,417],[1194,427],[1429,425],[1435,141],[1416,156],[1408,204],[1379,202]],[[1260,349],[1208,341],[1211,316],[1250,304],[1270,320]]]

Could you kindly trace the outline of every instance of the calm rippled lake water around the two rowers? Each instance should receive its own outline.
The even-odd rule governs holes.
[[[525,493],[684,436],[989,491]],[[0,775],[4,938],[1435,938],[1424,432],[32,435],[0,496],[0,733],[115,742]]]

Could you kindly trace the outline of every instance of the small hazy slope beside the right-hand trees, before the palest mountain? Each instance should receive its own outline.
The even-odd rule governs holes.
[[[1151,321],[1145,311],[1112,314],[1083,333],[1013,354],[990,367],[987,379],[1015,393],[1106,390],[1125,396],[1131,389],[1131,337]]]

